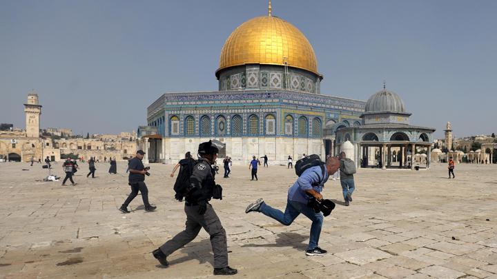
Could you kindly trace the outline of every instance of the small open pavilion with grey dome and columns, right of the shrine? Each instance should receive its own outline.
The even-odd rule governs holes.
[[[383,90],[366,103],[362,125],[342,127],[336,132],[336,148],[350,141],[358,167],[414,169],[417,149],[426,152],[429,168],[434,128],[409,125],[409,116],[398,94]],[[426,149],[426,150],[425,150]]]

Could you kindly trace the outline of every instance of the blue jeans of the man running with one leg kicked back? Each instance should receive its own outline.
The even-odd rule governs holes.
[[[284,213],[278,209],[274,209],[266,203],[262,203],[259,211],[269,216],[278,222],[282,223],[285,226],[291,225],[293,220],[297,218],[301,213],[304,214],[307,218],[313,221],[311,225],[311,236],[309,237],[309,247],[307,249],[314,249],[318,247],[319,237],[321,234],[321,227],[323,223],[323,216],[320,213],[315,213],[311,207],[307,207],[304,203],[295,202],[292,200],[286,201],[286,209]]]

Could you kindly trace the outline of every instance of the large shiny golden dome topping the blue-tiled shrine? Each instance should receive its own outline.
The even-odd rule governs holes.
[[[279,17],[255,17],[238,26],[226,39],[218,72],[244,64],[284,65],[318,74],[318,62],[307,38]]]

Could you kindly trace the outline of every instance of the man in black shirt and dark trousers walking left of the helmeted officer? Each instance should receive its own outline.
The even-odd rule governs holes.
[[[144,167],[142,163],[142,159],[145,155],[143,150],[138,150],[135,158],[131,159],[128,164],[129,168],[129,185],[131,186],[131,193],[128,198],[124,201],[124,203],[119,207],[119,211],[122,213],[130,213],[128,211],[128,205],[131,203],[131,200],[138,195],[138,191],[142,193],[142,198],[144,200],[145,211],[154,211],[157,207],[150,205],[148,203],[148,189],[145,185],[145,174],[148,174],[148,169],[150,167]]]

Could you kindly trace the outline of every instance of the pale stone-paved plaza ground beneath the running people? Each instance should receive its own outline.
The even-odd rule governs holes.
[[[182,203],[173,199],[172,166],[152,165],[146,182],[156,212],[144,211],[138,196],[131,214],[117,207],[129,187],[120,174],[86,164],[75,187],[42,182],[46,169],[26,163],[0,164],[0,278],[206,278],[212,276],[208,235],[199,237],[157,265],[150,251],[184,228]],[[23,171],[21,169],[29,169]],[[223,200],[213,207],[228,233],[235,278],[497,278],[497,167],[457,165],[447,179],[445,165],[431,171],[361,169],[350,207],[341,205],[338,181],[324,196],[338,200],[324,221],[320,246],[327,256],[304,254],[310,220],[285,227],[262,214],[245,214],[264,197],[284,208],[295,179],[282,166],[234,167],[218,178]],[[61,165],[55,173],[62,174]]]

